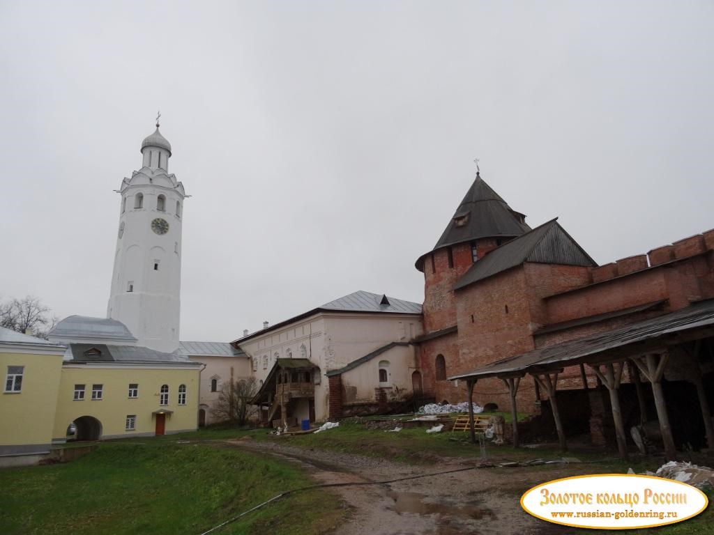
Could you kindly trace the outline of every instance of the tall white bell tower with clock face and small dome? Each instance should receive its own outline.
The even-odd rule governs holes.
[[[178,348],[181,223],[186,193],[169,175],[171,143],[156,131],[141,143],[142,167],[124,178],[107,317],[129,327],[136,345]]]

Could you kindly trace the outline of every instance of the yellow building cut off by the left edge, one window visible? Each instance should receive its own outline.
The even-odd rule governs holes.
[[[0,327],[0,466],[49,452],[65,347]],[[29,457],[30,459],[27,459]],[[23,463],[23,464],[24,464]]]

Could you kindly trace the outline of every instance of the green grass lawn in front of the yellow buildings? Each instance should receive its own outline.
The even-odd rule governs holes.
[[[312,483],[293,464],[210,442],[180,444],[175,436],[105,442],[74,462],[0,471],[0,531],[198,535],[281,491]],[[342,518],[336,496],[311,490],[217,534],[321,534]]]

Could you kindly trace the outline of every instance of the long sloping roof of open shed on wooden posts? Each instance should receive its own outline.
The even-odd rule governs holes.
[[[670,312],[625,327],[600,332],[577,340],[542,347],[522,355],[497,360],[473,372],[449,377],[449,379],[478,379],[480,377],[505,377],[508,374],[525,374],[535,370],[548,370],[586,362],[609,350],[656,340],[696,327],[714,326],[714,299],[693,303],[682,310]]]

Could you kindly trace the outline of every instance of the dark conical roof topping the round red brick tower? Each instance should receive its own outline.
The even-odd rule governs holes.
[[[463,217],[466,217],[466,223],[457,226],[456,219]],[[456,243],[478,240],[478,238],[520,236],[531,230],[523,218],[525,216],[522,213],[516,212],[508,206],[501,195],[498,195],[490,185],[484,182],[481,174],[476,173],[476,180],[473,181],[461,204],[456,208],[446,230],[434,245],[433,251]],[[521,223],[522,220],[523,223]],[[423,270],[423,259],[428,254],[421,255],[416,261],[418,270]]]

